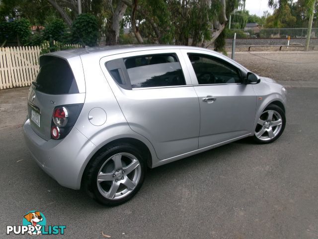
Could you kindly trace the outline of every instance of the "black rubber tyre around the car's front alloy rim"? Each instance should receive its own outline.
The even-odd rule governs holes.
[[[274,142],[276,139],[278,139],[280,137],[280,135],[282,135],[284,129],[285,129],[285,125],[286,125],[286,116],[285,116],[285,112],[283,111],[283,109],[281,109],[279,106],[276,106],[276,105],[273,105],[273,104],[270,104],[269,106],[266,107],[266,109],[263,111],[261,117],[263,116],[264,113],[268,112],[268,111],[274,111],[274,112],[277,112],[279,114],[279,116],[281,117],[281,120],[282,120],[282,124],[281,124],[281,128],[279,129],[279,132],[277,132],[277,134],[271,138],[271,139],[268,139],[268,140],[264,140],[264,139],[261,139],[259,137],[257,137],[255,134],[256,132],[259,132],[259,127],[260,127],[260,124],[257,124],[256,125],[256,128],[254,129],[254,135],[253,135],[253,139],[256,143],[261,143],[261,144],[264,144],[264,143],[271,143],[271,142]],[[275,116],[275,114],[274,114]],[[260,118],[261,118],[260,117]],[[276,126],[277,127],[277,126]],[[276,128],[273,128],[273,130],[275,130]]]

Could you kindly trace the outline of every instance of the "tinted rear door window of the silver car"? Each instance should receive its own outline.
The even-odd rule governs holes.
[[[132,88],[185,85],[175,54],[130,57],[124,62]]]

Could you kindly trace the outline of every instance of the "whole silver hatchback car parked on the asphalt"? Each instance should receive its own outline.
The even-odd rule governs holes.
[[[146,169],[252,136],[276,140],[286,90],[217,52],[108,46],[40,57],[28,95],[27,147],[59,184],[118,205]]]

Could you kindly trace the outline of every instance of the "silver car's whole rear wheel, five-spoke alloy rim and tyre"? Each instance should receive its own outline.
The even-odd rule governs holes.
[[[112,146],[95,157],[87,170],[90,194],[100,203],[116,206],[127,202],[140,189],[146,163],[130,144]]]

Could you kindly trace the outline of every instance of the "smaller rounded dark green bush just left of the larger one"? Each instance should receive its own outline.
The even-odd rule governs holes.
[[[43,39],[48,41],[65,41],[66,24],[60,18],[55,18],[53,21],[45,25],[43,31]]]

